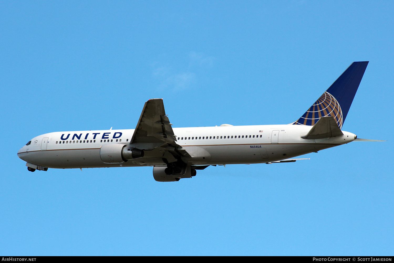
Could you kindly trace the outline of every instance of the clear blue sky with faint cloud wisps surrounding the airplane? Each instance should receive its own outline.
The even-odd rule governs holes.
[[[3,1],[0,254],[392,255],[390,1]],[[284,164],[28,172],[17,150],[67,130],[287,124],[370,61],[353,142]]]

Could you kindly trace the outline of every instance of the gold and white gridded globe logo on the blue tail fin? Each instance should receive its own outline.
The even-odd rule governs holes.
[[[333,95],[325,91],[318,100],[294,124],[313,126],[321,117],[332,116],[342,129],[342,110]]]

